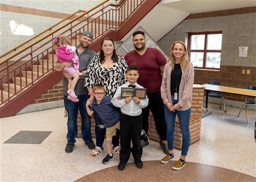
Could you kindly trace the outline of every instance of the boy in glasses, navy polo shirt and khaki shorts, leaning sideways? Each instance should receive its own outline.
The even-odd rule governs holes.
[[[86,110],[89,116],[93,115],[94,111],[96,111],[106,128],[106,148],[108,149],[108,154],[102,160],[102,163],[107,164],[113,160],[112,137],[119,135],[120,112],[118,111],[118,108],[115,108],[111,103],[111,97],[105,97],[105,89],[103,85],[94,85],[93,94],[95,99],[93,100],[92,107],[89,108],[91,102],[87,100]],[[100,147],[98,147],[98,149],[99,151],[102,151]]]

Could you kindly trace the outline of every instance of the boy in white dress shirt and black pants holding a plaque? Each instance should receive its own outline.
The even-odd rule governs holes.
[[[119,170],[124,170],[126,163],[132,152],[137,168],[142,168],[141,161],[142,147],[140,146],[140,136],[142,129],[142,108],[148,105],[148,98],[139,99],[137,97],[127,97],[121,99],[121,87],[143,88],[137,84],[139,78],[139,68],[131,65],[126,71],[127,83],[120,86],[111,102],[114,106],[121,108],[120,115],[120,163]],[[133,147],[131,148],[131,140]]]

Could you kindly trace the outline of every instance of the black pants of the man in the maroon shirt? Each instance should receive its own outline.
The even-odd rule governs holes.
[[[150,115],[150,110],[153,114],[156,131],[159,135],[159,138],[162,140],[167,140],[166,138],[166,122],[164,117],[164,104],[161,98],[161,92],[146,94],[148,97],[148,106],[142,109],[142,129],[148,132],[148,116]]]

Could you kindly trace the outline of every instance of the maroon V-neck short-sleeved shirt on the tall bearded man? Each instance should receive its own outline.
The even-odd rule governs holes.
[[[135,65],[139,68],[139,79],[137,83],[147,89],[147,93],[160,91],[162,83],[162,73],[159,66],[166,64],[167,60],[156,48],[146,48],[143,55],[139,55],[136,50],[124,56],[128,66]]]

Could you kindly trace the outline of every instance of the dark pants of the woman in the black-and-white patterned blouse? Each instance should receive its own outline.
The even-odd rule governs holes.
[[[102,144],[105,139],[106,128],[105,128],[104,124],[102,123],[101,118],[99,117],[99,115],[96,111],[94,111],[93,115],[94,115],[94,119],[95,119],[96,146],[102,147]],[[114,147],[119,146],[119,135],[120,135],[120,131],[119,131],[119,129],[117,129],[116,136],[112,137],[112,144]]]

